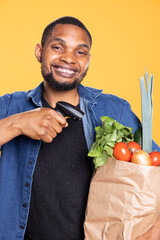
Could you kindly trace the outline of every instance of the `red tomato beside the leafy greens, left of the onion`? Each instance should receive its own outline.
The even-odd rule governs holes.
[[[131,160],[131,152],[129,151],[129,148],[126,143],[124,142],[119,142],[116,143],[113,149],[113,156],[117,160],[122,160],[129,162]]]

